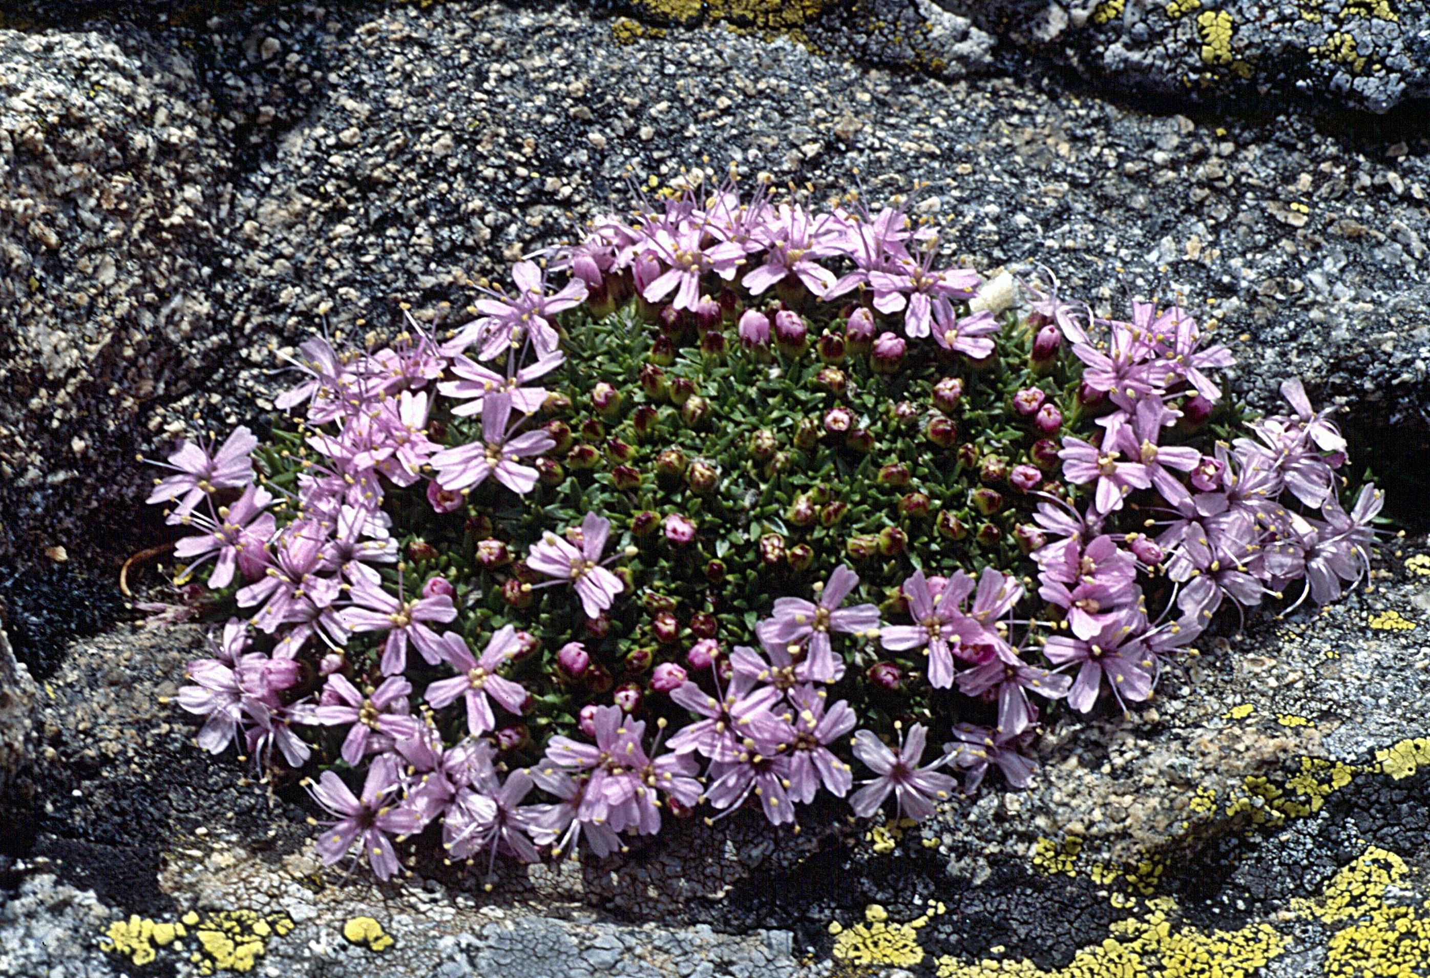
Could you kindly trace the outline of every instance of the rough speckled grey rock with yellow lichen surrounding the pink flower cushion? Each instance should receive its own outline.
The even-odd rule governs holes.
[[[54,285],[0,286],[30,303],[0,332],[3,438],[24,439],[0,449],[20,466],[0,480],[11,556],[152,543],[152,526],[93,532],[103,513],[133,523],[130,453],[194,416],[259,419],[270,346],[323,322],[385,330],[403,303],[438,323],[482,276],[628,204],[631,177],[669,184],[731,160],[814,199],[855,169],[875,200],[918,182],[918,213],[955,253],[988,272],[1044,265],[1100,312],[1127,292],[1181,295],[1241,359],[1244,395],[1268,406],[1296,373],[1343,399],[1363,458],[1399,463],[1381,466],[1391,498],[1419,499],[1423,143],[1290,112],[1144,114],[985,76],[974,27],[891,10],[962,44],[967,77],[947,60],[871,67],[918,64],[915,34],[898,33],[905,51],[887,27],[898,17],[862,34],[824,20],[847,10],[681,27],[460,0],[226,4],[170,26],[0,31],[0,84],[14,86],[0,132],[19,147],[0,172],[19,202],[0,210],[0,247]],[[799,43],[844,50],[819,34],[829,23],[861,63]],[[113,183],[127,209],[104,209]],[[36,220],[66,230],[57,249]],[[90,350],[84,330],[109,329],[104,316],[113,342]],[[54,403],[33,408],[41,387]],[[72,438],[94,439],[83,463]],[[1291,978],[1394,955],[1424,969],[1430,945],[1411,937],[1430,934],[1413,872],[1430,868],[1430,746],[1416,741],[1430,563],[1416,552],[1384,556],[1373,593],[1208,643],[1131,721],[1058,725],[1030,792],[960,801],[914,831],[842,826],[834,811],[801,836],[685,822],[623,861],[503,871],[489,894],[425,856],[390,888],[320,872],[302,791],[200,754],[163,702],[199,635],[120,625],[54,656],[41,685],[39,838],[0,865],[0,974],[1173,978],[1218,961]]]

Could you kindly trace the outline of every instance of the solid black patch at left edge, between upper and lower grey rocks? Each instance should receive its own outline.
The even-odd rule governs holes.
[[[123,613],[119,588],[67,565],[0,568],[0,625],[36,679],[53,675],[72,639],[97,635]]]

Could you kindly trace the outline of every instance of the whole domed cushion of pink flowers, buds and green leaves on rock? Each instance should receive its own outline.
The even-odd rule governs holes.
[[[1243,433],[1184,310],[1017,306],[938,255],[897,206],[722,187],[469,322],[305,342],[290,420],[150,496],[227,621],[179,696],[200,746],[316,766],[319,852],[382,878],[429,826],[490,865],[702,804],[922,819],[1025,785],[1060,701],[1145,701],[1223,605],[1363,573],[1380,496],[1341,508],[1298,382]]]

